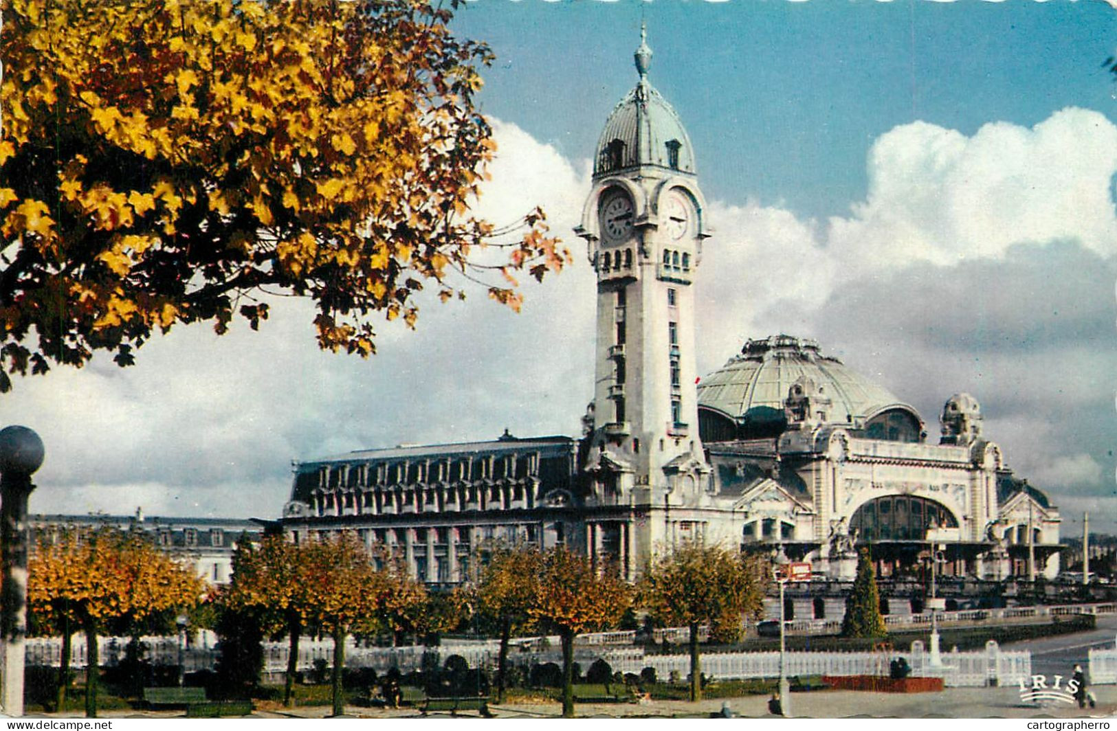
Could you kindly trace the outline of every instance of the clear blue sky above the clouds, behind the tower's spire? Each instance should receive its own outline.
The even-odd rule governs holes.
[[[457,27],[497,56],[485,112],[585,156],[632,86],[641,18],[706,193],[810,215],[863,196],[866,152],[896,125],[972,134],[1114,104],[1101,61],[1117,13],[1100,1],[475,0]]]

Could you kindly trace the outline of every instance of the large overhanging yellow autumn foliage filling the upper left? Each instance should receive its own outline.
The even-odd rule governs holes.
[[[128,365],[175,324],[256,329],[271,295],[313,299],[319,346],[362,356],[372,316],[413,326],[424,287],[480,277],[518,307],[515,273],[570,254],[538,210],[470,213],[490,52],[449,4],[8,0],[0,391],[98,349]]]

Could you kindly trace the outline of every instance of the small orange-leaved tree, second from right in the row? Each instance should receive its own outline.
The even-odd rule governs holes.
[[[613,627],[631,604],[631,588],[615,571],[565,546],[543,554],[531,617],[562,642],[562,714],[574,715],[574,637]]]

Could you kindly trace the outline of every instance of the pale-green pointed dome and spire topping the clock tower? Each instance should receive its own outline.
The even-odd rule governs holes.
[[[689,135],[674,107],[648,81],[651,49],[645,30],[641,30],[634,60],[640,80],[609,115],[598,141],[593,174],[604,175],[639,165],[694,173]]]

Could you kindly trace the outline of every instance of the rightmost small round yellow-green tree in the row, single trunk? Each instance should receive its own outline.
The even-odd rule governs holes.
[[[660,626],[690,629],[690,700],[701,700],[698,628],[724,641],[739,638],[747,615],[763,609],[767,566],[756,556],[688,542],[650,562],[637,585],[637,604]]]

